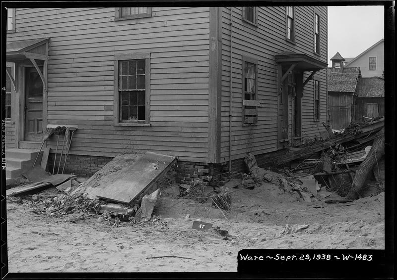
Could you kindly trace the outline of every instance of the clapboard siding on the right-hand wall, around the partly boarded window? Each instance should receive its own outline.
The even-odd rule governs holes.
[[[327,7],[318,7],[321,15],[321,49],[319,58],[327,61]],[[294,51],[314,56],[314,8],[295,7],[295,42],[285,40],[285,7],[258,7],[257,26],[242,20],[241,7],[233,7],[232,57],[232,151],[231,160],[245,153],[262,154],[277,149],[277,66],[274,55]],[[229,101],[230,101],[230,7],[222,8],[222,113],[221,161],[229,159]],[[258,124],[243,126],[242,58],[258,60]],[[304,79],[310,73],[304,74]],[[313,82],[306,84],[302,97],[302,135],[314,137],[317,127],[326,120],[326,70],[317,72],[321,80],[321,119],[314,121]],[[291,111],[292,100],[289,100]],[[292,122],[292,115],[289,116]]]

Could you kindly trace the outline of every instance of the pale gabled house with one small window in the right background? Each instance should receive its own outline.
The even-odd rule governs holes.
[[[382,77],[385,70],[385,40],[380,40],[353,59],[349,59],[345,67],[360,67],[363,78]]]

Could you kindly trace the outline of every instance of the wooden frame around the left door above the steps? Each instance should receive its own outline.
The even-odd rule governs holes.
[[[45,81],[47,82],[47,60],[36,60],[36,63],[39,67],[43,67],[43,76],[45,77]],[[17,146],[19,147],[19,142],[25,140],[25,102],[26,102],[26,92],[25,92],[25,80],[26,80],[26,68],[33,67],[34,65],[29,60],[23,60],[18,65],[15,65],[16,72],[19,74],[18,79],[18,92],[17,98],[19,99],[19,116],[18,116],[18,128],[15,132],[15,135],[18,135]],[[47,83],[43,85],[43,136],[44,132],[47,128]],[[46,147],[47,143],[43,147]]]

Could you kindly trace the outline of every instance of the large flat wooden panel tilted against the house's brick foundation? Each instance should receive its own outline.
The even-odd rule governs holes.
[[[91,188],[90,195],[99,198],[130,203],[141,194],[151,190],[154,183],[165,175],[176,158],[173,156],[146,152],[124,172],[115,172],[115,180],[106,186]],[[90,195],[88,198],[90,198]]]

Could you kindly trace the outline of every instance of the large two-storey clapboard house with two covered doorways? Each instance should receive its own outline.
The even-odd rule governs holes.
[[[6,146],[37,148],[47,127],[77,127],[68,172],[155,151],[176,156],[190,181],[200,167],[243,168],[247,152],[259,161],[287,152],[327,119],[325,6],[15,8],[9,17]],[[56,138],[47,145],[53,156]]]

